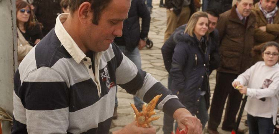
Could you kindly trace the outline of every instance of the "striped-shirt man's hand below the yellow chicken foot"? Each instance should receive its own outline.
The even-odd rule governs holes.
[[[113,134],[156,134],[156,128],[151,125],[149,128],[138,127],[137,122],[134,121]]]

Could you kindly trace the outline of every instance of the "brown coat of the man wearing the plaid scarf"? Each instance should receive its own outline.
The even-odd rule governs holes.
[[[252,9],[253,14],[256,16],[255,25],[255,45],[259,45],[268,41],[275,41],[279,43],[279,10],[277,15],[274,17],[273,24],[268,24],[266,18],[264,17],[262,11],[258,7],[258,3],[255,4],[255,8]],[[266,32],[259,29],[261,26],[266,26]]]

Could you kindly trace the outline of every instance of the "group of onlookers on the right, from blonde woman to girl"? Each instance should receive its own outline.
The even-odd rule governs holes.
[[[217,128],[227,98],[222,129],[235,129],[236,114],[244,94],[248,96],[245,110],[249,133],[272,134],[279,101],[277,0],[255,3],[253,0],[204,0],[202,7],[207,15],[200,11],[189,12],[193,15],[184,20],[186,27],[171,23],[177,24],[177,29],[170,32],[170,38],[166,36],[169,32],[167,25],[162,54],[169,72],[168,88],[201,120],[203,128],[208,122],[207,132],[210,134],[219,134]],[[182,7],[181,14],[183,8],[186,7]],[[167,9],[175,12],[175,8]],[[217,15],[208,12],[211,9],[215,9],[213,12]],[[177,14],[178,19],[174,20],[179,20],[181,14]],[[217,69],[216,85],[208,115],[208,76],[213,69]],[[261,101],[260,98],[267,100]],[[165,134],[173,131],[172,120],[164,115]],[[241,129],[236,131],[244,133]]]

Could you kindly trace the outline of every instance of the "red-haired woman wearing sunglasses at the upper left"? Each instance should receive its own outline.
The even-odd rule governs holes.
[[[18,62],[27,55],[42,38],[41,25],[33,21],[30,5],[22,0],[16,1],[16,25],[18,43]]]

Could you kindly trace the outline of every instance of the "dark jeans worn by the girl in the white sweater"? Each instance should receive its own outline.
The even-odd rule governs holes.
[[[249,134],[273,134],[273,118],[254,117],[247,114]]]

